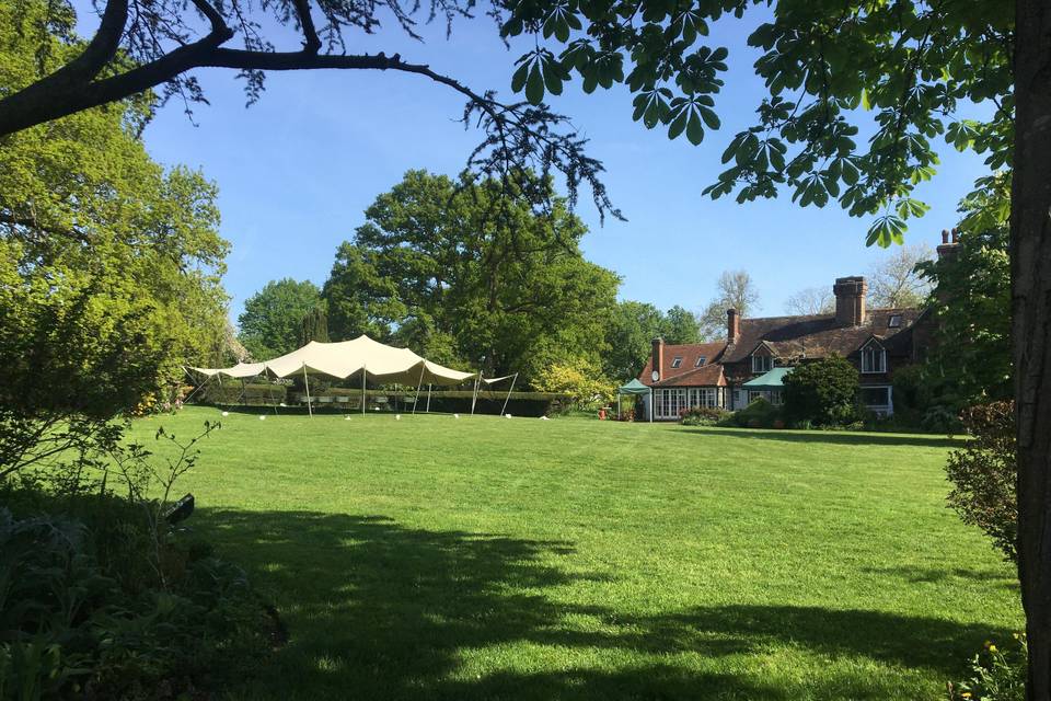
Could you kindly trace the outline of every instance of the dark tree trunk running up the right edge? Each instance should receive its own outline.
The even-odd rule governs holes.
[[[1051,3],[1016,0],[1012,344],[1030,700],[1051,700]]]

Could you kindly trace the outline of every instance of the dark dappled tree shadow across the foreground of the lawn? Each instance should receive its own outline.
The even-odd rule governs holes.
[[[565,541],[310,512],[201,509],[195,520],[249,570],[289,629],[288,645],[243,698],[795,699],[800,689],[790,685],[798,681],[764,671],[772,648],[950,678],[983,640],[1001,633],[818,607],[698,607],[633,617],[604,601],[559,600],[559,587],[603,581],[567,571],[561,560],[575,551]],[[488,667],[472,674],[471,660],[478,660],[472,653],[482,650]],[[705,669],[669,663],[684,653]],[[832,681],[807,683],[815,698],[897,698],[901,691],[894,673],[873,679],[841,671]],[[821,685],[832,686],[820,691]]]

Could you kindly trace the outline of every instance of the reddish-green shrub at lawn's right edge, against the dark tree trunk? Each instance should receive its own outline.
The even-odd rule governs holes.
[[[960,420],[973,440],[949,453],[949,506],[965,524],[985,531],[1007,560],[1017,562],[1014,402],[972,406],[960,414]]]

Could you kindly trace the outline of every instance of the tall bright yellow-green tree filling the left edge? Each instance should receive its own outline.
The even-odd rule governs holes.
[[[18,37],[47,7],[21,10],[0,5],[0,94],[37,60]],[[146,112],[89,111],[0,148],[0,476],[101,460],[117,415],[222,350],[218,193],[150,159]]]

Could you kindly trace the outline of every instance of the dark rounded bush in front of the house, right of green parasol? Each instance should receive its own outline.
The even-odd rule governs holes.
[[[793,423],[843,426],[858,418],[857,368],[831,355],[796,366],[784,379],[785,413]]]

